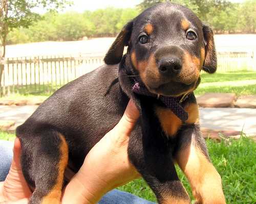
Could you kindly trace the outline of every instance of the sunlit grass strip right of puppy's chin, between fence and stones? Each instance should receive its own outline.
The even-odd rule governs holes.
[[[234,71],[226,73],[202,73],[201,83],[196,89],[196,95],[204,93],[236,93],[241,95],[256,94],[256,72]]]

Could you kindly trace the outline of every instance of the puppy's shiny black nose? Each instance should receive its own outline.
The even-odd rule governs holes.
[[[158,68],[161,74],[177,75],[181,71],[181,59],[175,56],[160,59]]]

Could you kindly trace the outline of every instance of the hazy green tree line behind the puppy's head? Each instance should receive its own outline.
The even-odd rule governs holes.
[[[145,8],[166,0],[145,0],[136,8],[106,8],[83,13],[48,12],[28,28],[14,28],[8,44],[36,41],[70,41],[82,37],[113,37],[123,25]],[[225,0],[174,0],[192,9],[215,33],[255,33],[256,1],[231,3]]]

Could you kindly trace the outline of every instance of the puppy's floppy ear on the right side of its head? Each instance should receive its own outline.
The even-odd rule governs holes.
[[[203,25],[205,59],[203,70],[208,73],[214,73],[217,69],[217,54],[214,43],[214,33],[207,26]]]

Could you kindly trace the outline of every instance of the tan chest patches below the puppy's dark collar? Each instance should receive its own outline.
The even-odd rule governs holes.
[[[184,109],[188,113],[188,119],[182,122],[170,109],[155,107],[156,115],[166,135],[175,136],[183,124],[199,122],[199,110],[196,103],[187,104]]]

